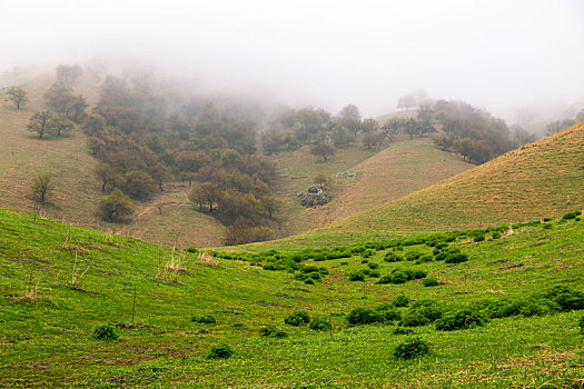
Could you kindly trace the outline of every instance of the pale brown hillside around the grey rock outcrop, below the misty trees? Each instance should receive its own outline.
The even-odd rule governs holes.
[[[281,216],[284,236],[324,227],[473,167],[452,153],[437,150],[428,138],[400,138],[376,153],[352,147],[339,150],[331,161],[325,163],[308,154],[306,148],[281,153],[275,160],[284,173],[279,190],[286,199]],[[313,177],[346,170],[357,176],[335,178],[329,203],[317,209],[305,209],[298,203],[296,193],[311,184]]]

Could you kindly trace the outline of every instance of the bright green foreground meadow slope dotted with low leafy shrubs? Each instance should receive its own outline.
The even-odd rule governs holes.
[[[557,307],[583,302],[577,291],[584,291],[584,221],[574,216],[515,226],[499,236],[502,230],[403,239],[399,246],[352,245],[350,257],[295,261],[323,273],[309,283],[298,279],[300,270],[264,270],[260,265],[270,262],[265,258],[253,265],[195,249],[172,251],[0,209],[0,386],[581,382],[584,311]],[[452,248],[467,260],[435,260]],[[396,257],[403,260],[393,261]],[[439,285],[348,280],[367,269],[382,277],[395,269],[424,271]],[[541,293],[557,286],[574,293],[542,302]],[[546,305],[537,315],[522,313]],[[349,323],[355,309],[367,312],[368,325]],[[297,311],[306,311],[308,325],[304,315],[296,315],[303,317],[298,327],[285,323]],[[443,321],[403,327],[424,323],[419,316],[435,318],[436,311]],[[459,322],[469,328],[455,329]]]

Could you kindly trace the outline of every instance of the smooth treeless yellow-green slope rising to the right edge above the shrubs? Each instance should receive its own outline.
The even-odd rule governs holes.
[[[584,208],[584,123],[325,231],[436,231],[558,217]]]

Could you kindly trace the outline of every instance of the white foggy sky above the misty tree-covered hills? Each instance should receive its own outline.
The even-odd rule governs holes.
[[[417,89],[495,112],[584,96],[583,0],[0,0],[0,70],[107,57],[369,116]]]

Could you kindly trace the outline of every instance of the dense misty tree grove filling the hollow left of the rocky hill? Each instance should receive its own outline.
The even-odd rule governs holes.
[[[147,80],[108,77],[83,124],[101,163],[101,190],[149,199],[176,179],[192,187],[189,200],[228,226],[228,243],[275,237],[270,219],[275,166],[256,151],[256,113],[232,101],[176,101],[152,92]]]

